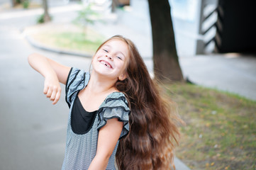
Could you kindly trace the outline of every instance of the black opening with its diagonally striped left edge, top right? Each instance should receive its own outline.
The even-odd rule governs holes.
[[[200,0],[198,33],[201,38],[196,42],[196,54],[256,53],[255,8],[253,0]]]

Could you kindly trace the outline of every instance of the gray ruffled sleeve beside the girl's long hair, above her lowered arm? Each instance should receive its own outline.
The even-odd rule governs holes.
[[[128,108],[128,102],[123,93],[114,92],[108,95],[104,103],[101,104],[98,113],[98,130],[106,125],[108,119],[118,118],[119,121],[123,122],[123,130],[119,140],[128,135],[130,109]]]

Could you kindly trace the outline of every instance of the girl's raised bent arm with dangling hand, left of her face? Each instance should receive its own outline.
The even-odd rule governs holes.
[[[66,67],[36,53],[28,56],[28,63],[45,77],[43,93],[46,97],[50,98],[52,104],[57,103],[61,94],[60,83],[66,84],[70,67]]]

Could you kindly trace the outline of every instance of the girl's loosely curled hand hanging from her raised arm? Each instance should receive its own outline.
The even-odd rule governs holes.
[[[57,77],[45,78],[45,87],[43,89],[43,93],[46,94],[47,98],[50,98],[50,101],[53,101],[53,105],[59,101],[61,87]]]

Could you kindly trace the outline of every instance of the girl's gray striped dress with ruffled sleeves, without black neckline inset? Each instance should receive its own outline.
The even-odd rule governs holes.
[[[89,165],[96,155],[99,130],[106,125],[108,119],[118,118],[119,121],[123,122],[123,130],[119,140],[122,137],[125,137],[129,131],[128,119],[130,109],[128,108],[126,97],[121,92],[113,92],[105,98],[104,102],[101,103],[101,106],[96,113],[96,117],[93,120],[92,127],[88,132],[78,135],[72,131],[71,114],[74,99],[77,97],[79,91],[87,86],[89,78],[90,74],[88,72],[76,68],[70,70],[67,78],[66,101],[70,111],[67,124],[65,159],[62,164],[62,170],[89,169]],[[106,169],[115,169],[114,162],[119,140],[111,157],[108,159],[108,166]]]

